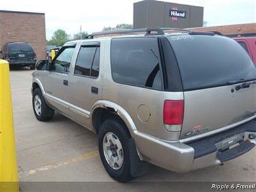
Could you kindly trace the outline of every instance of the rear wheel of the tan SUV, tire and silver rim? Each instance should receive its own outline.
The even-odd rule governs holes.
[[[131,136],[119,118],[103,122],[99,130],[100,159],[108,174],[119,182],[127,182],[131,175],[129,140]]]

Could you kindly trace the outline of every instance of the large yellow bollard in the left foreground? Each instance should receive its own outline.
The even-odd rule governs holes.
[[[9,63],[0,60],[0,191],[19,191]]]

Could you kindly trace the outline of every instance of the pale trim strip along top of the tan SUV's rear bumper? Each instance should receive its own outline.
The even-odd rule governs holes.
[[[253,120],[254,118],[256,118],[256,115],[254,115],[254,116],[252,116],[252,117],[250,117],[246,120],[243,120],[241,122],[237,122],[236,124],[227,125],[227,126],[222,127],[220,129],[215,129],[215,130],[205,132],[205,133],[202,133],[202,134],[198,134],[196,136],[192,136],[190,138],[185,138],[185,139],[182,139],[182,140],[179,140],[179,141],[180,141],[180,143],[185,143],[185,142],[188,142],[188,141],[198,140],[200,138],[204,138],[206,136],[210,136],[212,134],[216,134],[216,133],[221,132],[221,131],[226,131],[228,129],[232,129],[232,128],[237,127],[237,126],[239,126],[241,124],[244,124],[246,122],[250,122],[250,120]]]

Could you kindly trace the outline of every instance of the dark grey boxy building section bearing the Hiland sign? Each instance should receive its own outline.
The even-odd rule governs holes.
[[[138,28],[197,28],[203,26],[204,8],[188,4],[145,0],[133,5],[133,26]]]

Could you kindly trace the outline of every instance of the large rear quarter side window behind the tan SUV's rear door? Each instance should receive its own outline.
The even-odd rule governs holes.
[[[116,38],[111,42],[113,80],[161,89],[157,38]]]

